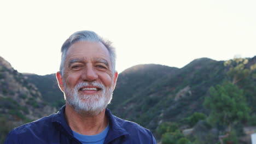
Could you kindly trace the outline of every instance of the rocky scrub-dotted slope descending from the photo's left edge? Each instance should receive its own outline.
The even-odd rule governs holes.
[[[55,112],[38,88],[0,57],[0,143],[10,129]]]

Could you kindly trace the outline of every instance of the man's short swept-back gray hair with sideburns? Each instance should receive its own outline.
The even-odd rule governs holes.
[[[89,41],[89,42],[96,42],[96,43],[102,43],[108,50],[110,55],[110,61],[112,63],[112,73],[115,73],[115,48],[111,45],[112,42],[101,38],[99,35],[97,35],[95,32],[92,31],[78,31],[72,34],[62,45],[61,47],[61,65],[60,65],[60,72],[63,77],[63,71],[64,71],[64,65],[66,60],[66,54],[69,47],[78,42],[78,41]]]

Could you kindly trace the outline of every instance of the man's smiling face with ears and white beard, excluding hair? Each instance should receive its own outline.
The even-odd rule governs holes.
[[[63,77],[57,74],[67,104],[78,112],[97,114],[105,109],[117,81],[107,48],[101,43],[79,41],[66,53]]]

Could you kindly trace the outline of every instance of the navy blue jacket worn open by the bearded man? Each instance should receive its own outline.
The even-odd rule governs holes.
[[[104,143],[156,143],[152,133],[140,125],[112,115],[106,109],[109,131]],[[11,143],[80,143],[65,119],[65,106],[48,117],[21,125],[10,131],[4,144]]]

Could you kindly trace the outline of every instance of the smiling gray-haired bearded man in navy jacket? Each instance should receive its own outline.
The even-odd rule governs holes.
[[[61,47],[56,77],[66,105],[51,116],[10,131],[5,143],[156,143],[148,129],[106,109],[117,82],[115,50],[91,31],[79,31]]]

